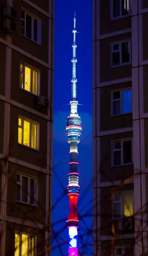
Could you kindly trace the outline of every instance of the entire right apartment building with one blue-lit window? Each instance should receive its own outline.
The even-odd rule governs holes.
[[[95,255],[148,251],[148,1],[93,0]]]

